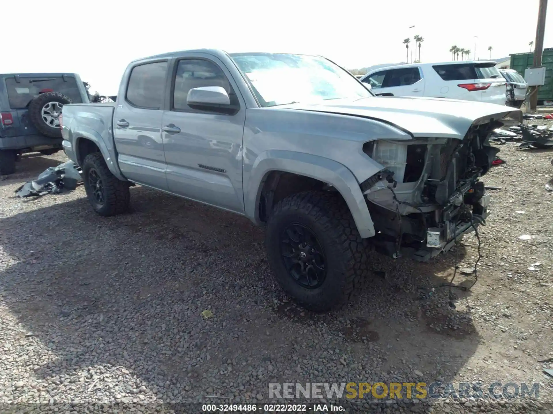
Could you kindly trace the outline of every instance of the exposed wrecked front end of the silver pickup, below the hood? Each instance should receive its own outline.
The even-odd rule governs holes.
[[[361,183],[374,249],[427,261],[485,224],[491,197],[479,178],[499,152],[489,137],[500,125],[472,125],[463,140],[367,142],[363,151],[385,167]]]

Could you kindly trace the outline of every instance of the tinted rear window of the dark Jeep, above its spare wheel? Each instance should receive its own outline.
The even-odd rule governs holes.
[[[19,81],[19,82],[18,82]],[[6,79],[9,107],[12,109],[27,108],[29,102],[44,92],[59,92],[74,103],[82,103],[82,97],[77,79],[72,76],[40,76]]]

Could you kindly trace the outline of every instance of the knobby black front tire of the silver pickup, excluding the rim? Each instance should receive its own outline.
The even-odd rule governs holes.
[[[325,252],[326,277],[315,289],[302,286],[286,270],[281,237],[287,225],[311,230]],[[345,304],[368,275],[368,242],[359,236],[345,201],[336,193],[308,191],[279,201],[267,222],[267,256],[281,288],[301,306],[327,311]]]

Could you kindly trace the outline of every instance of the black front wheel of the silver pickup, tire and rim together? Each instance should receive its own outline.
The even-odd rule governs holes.
[[[265,242],[276,280],[306,309],[343,305],[367,277],[367,242],[337,194],[309,191],[279,201]]]

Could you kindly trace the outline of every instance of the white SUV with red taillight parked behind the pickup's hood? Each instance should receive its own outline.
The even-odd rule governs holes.
[[[359,79],[377,96],[423,96],[505,105],[507,84],[495,62],[416,63],[379,68]]]

